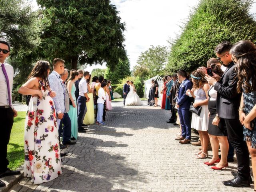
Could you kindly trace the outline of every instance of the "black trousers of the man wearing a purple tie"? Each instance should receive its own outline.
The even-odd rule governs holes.
[[[0,108],[1,135],[0,139],[0,172],[5,172],[9,161],[7,159],[7,145],[10,140],[13,125],[12,108]]]

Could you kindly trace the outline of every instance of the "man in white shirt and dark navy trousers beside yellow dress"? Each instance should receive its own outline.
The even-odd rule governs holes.
[[[85,71],[83,73],[83,78],[80,80],[78,84],[79,88],[79,96],[77,99],[78,103],[78,118],[77,118],[77,124],[78,124],[78,132],[85,132],[83,126],[83,120],[84,116],[87,112],[86,108],[86,102],[90,100],[88,97],[88,87],[87,87],[87,80],[90,77],[90,73],[88,71]]]

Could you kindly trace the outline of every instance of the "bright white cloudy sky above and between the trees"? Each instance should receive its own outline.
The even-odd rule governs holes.
[[[256,2],[256,0],[254,0]],[[36,0],[31,0],[37,9]],[[188,17],[191,7],[199,0],[111,0],[115,4],[122,22],[126,23],[124,32],[126,50],[131,63],[131,70],[141,52],[153,46],[168,46],[168,38],[175,38],[180,33],[182,20]],[[252,13],[256,13],[254,3]],[[105,68],[92,66],[87,68]]]

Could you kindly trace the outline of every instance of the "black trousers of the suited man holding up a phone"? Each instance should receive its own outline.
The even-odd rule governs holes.
[[[243,126],[238,119],[225,119],[225,123],[228,139],[236,152],[238,175],[247,180],[250,176],[250,160],[248,148],[244,141]]]

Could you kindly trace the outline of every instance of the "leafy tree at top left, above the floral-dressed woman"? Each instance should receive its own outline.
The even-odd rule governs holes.
[[[40,24],[25,0],[0,1],[0,39],[11,46],[7,62],[13,66],[14,84],[25,81],[38,58]]]

